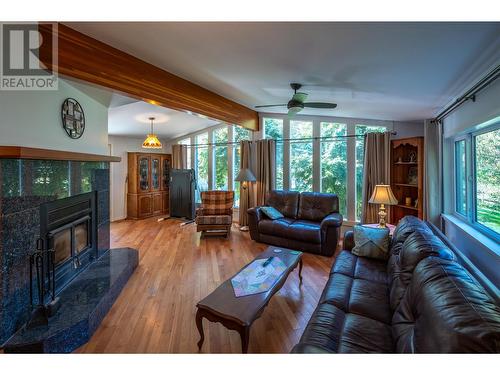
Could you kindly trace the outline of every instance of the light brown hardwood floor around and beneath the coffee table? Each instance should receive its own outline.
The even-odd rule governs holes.
[[[196,303],[267,245],[233,227],[229,240],[200,240],[179,220],[111,224],[111,247],[139,250],[139,266],[91,340],[77,353],[197,353]],[[288,353],[304,330],[327,281],[332,258],[304,254],[303,283],[290,274],[255,321],[249,353]],[[240,337],[204,320],[202,353],[241,353]]]

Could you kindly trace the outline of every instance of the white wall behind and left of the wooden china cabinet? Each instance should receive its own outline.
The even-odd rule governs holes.
[[[164,145],[161,150],[147,150],[142,148],[144,138],[130,138],[110,135],[108,137],[111,145],[111,154],[119,156],[122,160],[119,163],[111,163],[111,221],[122,220],[127,217],[126,205],[126,180],[128,171],[127,152],[151,152],[170,153],[171,147],[161,141]]]

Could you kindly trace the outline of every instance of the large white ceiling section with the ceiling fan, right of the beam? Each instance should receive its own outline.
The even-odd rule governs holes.
[[[68,25],[250,108],[286,103],[290,82],[309,101],[338,104],[303,114],[429,118],[477,78],[484,56],[500,61],[500,23]]]

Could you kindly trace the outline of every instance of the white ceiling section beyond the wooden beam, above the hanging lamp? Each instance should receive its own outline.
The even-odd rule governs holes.
[[[154,131],[162,139],[181,137],[217,124],[213,120],[141,101],[116,106],[127,99],[113,95],[111,102],[115,106],[108,111],[108,133],[111,135],[144,137],[150,132],[149,117],[155,117]]]

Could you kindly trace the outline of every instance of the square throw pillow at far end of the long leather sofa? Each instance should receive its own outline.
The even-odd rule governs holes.
[[[389,229],[354,226],[354,255],[387,260],[389,258]]]

